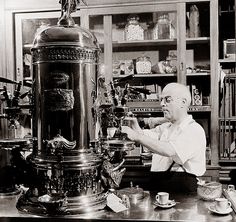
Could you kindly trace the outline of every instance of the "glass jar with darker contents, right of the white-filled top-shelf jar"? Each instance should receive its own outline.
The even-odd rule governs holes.
[[[167,14],[160,15],[153,28],[153,39],[173,38],[173,27]]]

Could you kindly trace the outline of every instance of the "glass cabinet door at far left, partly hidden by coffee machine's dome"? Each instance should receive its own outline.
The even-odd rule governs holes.
[[[31,78],[31,48],[35,35],[47,26],[56,25],[60,11],[15,13],[15,52],[16,80]],[[78,13],[73,16],[75,23],[80,25]]]

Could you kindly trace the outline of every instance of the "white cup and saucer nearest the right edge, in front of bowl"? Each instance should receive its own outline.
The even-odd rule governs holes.
[[[208,208],[211,212],[216,214],[229,214],[233,211],[231,208],[231,202],[223,197],[215,199],[215,203]]]

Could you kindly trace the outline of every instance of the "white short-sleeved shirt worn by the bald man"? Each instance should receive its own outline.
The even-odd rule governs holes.
[[[166,122],[153,129],[143,130],[153,139],[166,141],[175,149],[176,155],[165,157],[154,153],[151,171],[166,171],[173,161],[172,170],[185,171],[202,176],[206,171],[206,136],[200,124],[188,115],[177,127]]]

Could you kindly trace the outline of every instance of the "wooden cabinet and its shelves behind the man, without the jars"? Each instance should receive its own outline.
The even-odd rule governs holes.
[[[197,37],[187,35],[190,7],[196,5],[199,9],[201,34]],[[175,37],[171,39],[152,38],[151,29],[156,23],[158,13],[170,13],[175,27]],[[139,16],[139,23],[144,27],[144,39],[126,41],[124,28],[130,14]],[[170,15],[169,15],[170,17]],[[113,73],[114,62],[119,60],[135,60],[142,55],[149,56],[152,65],[166,59],[169,50],[176,51],[176,73],[139,74],[135,72],[134,79],[129,84],[150,87],[158,84],[163,88],[169,82],[180,82],[196,85],[202,89],[202,96],[207,97],[206,104],[190,107],[190,113],[203,124],[206,130],[208,146],[211,149],[211,165],[218,165],[218,1],[137,1],[126,3],[104,1],[97,7],[96,3],[88,2],[81,8],[81,25],[89,28],[97,36],[102,48],[101,63],[104,64],[106,81],[123,78],[127,75]],[[103,34],[104,33],[104,34]],[[188,73],[187,50],[194,54],[193,65],[205,66],[201,72]],[[190,87],[191,88],[191,87]],[[138,114],[162,115],[158,100],[131,99],[127,104],[131,111]]]

